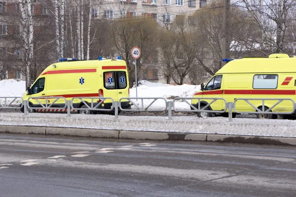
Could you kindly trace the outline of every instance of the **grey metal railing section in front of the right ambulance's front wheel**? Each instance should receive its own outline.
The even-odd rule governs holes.
[[[198,100],[198,106],[197,108],[195,106],[193,106],[190,102],[188,102],[187,100],[192,100],[192,99],[197,99]],[[200,108],[200,100],[212,100],[211,102],[209,102],[207,105],[203,106],[202,108]],[[176,105],[175,102],[176,100],[182,100],[185,103],[187,103],[192,109],[190,110],[185,110],[185,109],[176,109]],[[212,103],[216,102],[217,100],[223,100],[224,101],[224,105],[225,108],[223,110],[218,110],[218,111],[213,111],[213,110],[204,110],[205,108],[209,107]],[[222,98],[193,98],[193,97],[187,97],[187,98],[175,98],[173,100],[173,110],[176,112],[212,112],[212,113],[224,113],[227,110],[227,101],[225,99]]]

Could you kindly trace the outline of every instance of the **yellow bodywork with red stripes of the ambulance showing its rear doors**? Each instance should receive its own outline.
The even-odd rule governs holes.
[[[114,86],[115,80],[117,80],[115,79],[115,72],[122,75],[116,81],[123,84],[121,89],[110,89],[106,85],[110,82]],[[105,75],[110,76],[109,81],[108,78],[106,80],[104,79]],[[36,87],[37,85],[35,84],[41,78],[45,79],[43,90],[41,88],[42,91],[36,91],[38,92],[36,94],[29,95],[25,93],[23,96],[24,100],[30,97],[64,97],[67,100],[72,100],[74,97],[99,97],[100,89],[105,98],[109,97],[114,101],[119,101],[123,97],[129,97],[128,72],[126,63],[123,60],[89,60],[55,63],[45,68],[30,88]],[[45,103],[45,99],[39,100],[41,103]],[[89,103],[91,102],[91,99],[83,100]],[[50,104],[52,101],[49,99],[48,103]],[[127,102],[128,100],[121,101]],[[36,99],[30,99],[29,102],[33,105],[39,105]],[[80,102],[80,99],[74,99],[74,103]],[[103,106],[111,102],[111,99],[106,99]],[[55,102],[55,104],[59,103],[65,103],[65,100],[59,99]]]

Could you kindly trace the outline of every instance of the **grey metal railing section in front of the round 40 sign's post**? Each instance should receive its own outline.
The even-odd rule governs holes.
[[[128,101],[130,101],[137,109],[123,109],[122,107],[121,107],[121,100],[122,99],[126,99],[126,100],[128,100]],[[139,107],[138,106],[138,103],[136,103],[136,102],[134,102],[132,99],[140,99],[141,100],[141,107]],[[147,107],[145,107],[144,106],[144,99],[153,99],[149,104],[148,104],[148,106]],[[165,107],[163,108],[163,109],[149,109],[149,107],[156,101],[156,100],[158,100],[158,99],[161,99],[161,100],[164,100],[164,102],[165,102]],[[167,110],[167,108],[168,108],[168,101],[167,101],[167,99],[165,99],[165,98],[163,98],[163,97],[151,97],[151,98],[147,98],[147,97],[134,97],[134,98],[132,98],[132,97],[127,97],[127,98],[121,98],[121,99],[119,99],[119,101],[118,101],[118,105],[119,105],[119,108],[120,108],[120,110],[121,111],[157,111],[157,112],[161,112],[161,111],[166,111]]]

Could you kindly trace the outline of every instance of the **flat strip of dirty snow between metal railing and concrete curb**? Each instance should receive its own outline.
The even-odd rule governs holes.
[[[196,116],[168,117],[160,116],[118,116],[71,114],[29,114],[0,113],[0,125],[43,126],[66,128],[89,128],[125,131],[158,131],[179,133],[208,133],[250,136],[296,137],[295,121]]]

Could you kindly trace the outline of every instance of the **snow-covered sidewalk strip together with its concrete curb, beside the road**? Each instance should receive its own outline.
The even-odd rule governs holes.
[[[235,118],[0,113],[0,132],[104,138],[296,145],[296,121]],[[17,127],[15,127],[17,126]],[[21,127],[20,127],[21,126]]]

